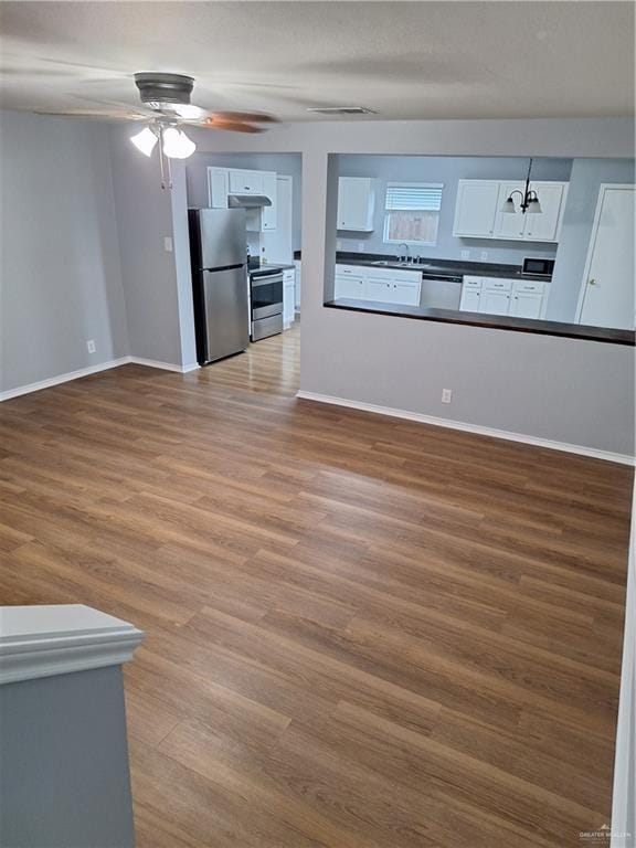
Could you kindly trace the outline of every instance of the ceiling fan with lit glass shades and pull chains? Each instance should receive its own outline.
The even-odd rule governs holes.
[[[194,78],[183,74],[161,72],[135,74],[142,106],[113,109],[72,109],[49,115],[67,115],[83,118],[109,118],[140,120],[146,126],[130,137],[135,147],[145,156],[151,156],[159,142],[161,188],[172,188],[170,159],[187,159],[197,145],[181,129],[182,126],[225,129],[232,132],[264,132],[258,124],[274,124],[277,118],[265,113],[208,112],[190,103]]]

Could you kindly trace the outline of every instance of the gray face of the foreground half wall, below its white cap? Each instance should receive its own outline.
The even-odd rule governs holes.
[[[132,848],[121,668],[0,686],[0,845]]]

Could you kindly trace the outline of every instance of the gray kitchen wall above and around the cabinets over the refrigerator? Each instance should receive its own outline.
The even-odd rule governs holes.
[[[231,144],[232,141],[230,141]],[[188,205],[208,206],[208,168],[247,168],[276,171],[294,178],[292,247],[300,250],[301,174],[299,153],[215,153],[197,152],[188,159]]]

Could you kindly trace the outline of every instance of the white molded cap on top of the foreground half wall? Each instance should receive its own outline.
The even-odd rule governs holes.
[[[0,683],[118,666],[144,633],[83,604],[0,607]]]

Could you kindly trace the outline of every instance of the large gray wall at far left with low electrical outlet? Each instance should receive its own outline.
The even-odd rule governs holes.
[[[126,356],[107,127],[3,112],[0,168],[1,390]]]

